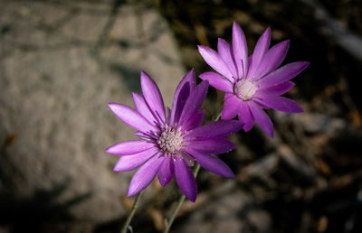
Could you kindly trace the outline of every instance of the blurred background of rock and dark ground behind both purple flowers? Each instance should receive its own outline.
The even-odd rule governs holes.
[[[233,135],[236,178],[202,170],[171,231],[361,232],[357,0],[0,0],[0,232],[119,232],[133,172],[103,151],[135,136],[107,103],[133,106],[145,70],[170,106],[187,70],[211,70],[196,45],[231,42],[234,21],[250,52],[270,26],[271,45],[291,39],[284,63],[310,61],[286,95],[305,112],[268,111],[274,138]],[[209,89],[206,121],[222,99]],[[179,194],[152,182],[134,232],[161,232]]]

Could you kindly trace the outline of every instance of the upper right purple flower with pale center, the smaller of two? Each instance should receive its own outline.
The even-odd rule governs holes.
[[[256,43],[252,55],[248,56],[243,30],[239,24],[233,23],[232,45],[219,39],[217,52],[202,45],[198,46],[198,50],[207,64],[219,73],[206,72],[200,78],[225,92],[222,119],[238,116],[245,132],[252,129],[256,121],[267,135],[273,136],[271,119],[262,108],[302,112],[296,102],[281,95],[295,86],[291,79],[310,63],[297,61],[277,69],[287,54],[290,42],[280,42],[269,49],[270,43],[271,29],[268,28]]]

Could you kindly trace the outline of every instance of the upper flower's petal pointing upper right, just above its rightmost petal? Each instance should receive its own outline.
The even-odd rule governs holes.
[[[287,55],[289,43],[289,40],[280,42],[272,46],[271,49],[265,53],[258,69],[254,72],[253,76],[255,79],[262,78],[281,65],[281,62],[284,61]]]

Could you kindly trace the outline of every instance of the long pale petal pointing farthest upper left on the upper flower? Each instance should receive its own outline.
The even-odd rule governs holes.
[[[216,51],[204,45],[198,45],[198,51],[200,52],[206,63],[209,64],[209,66],[211,66],[214,70],[216,70],[227,79],[233,79],[233,74],[227,68],[224,60]]]

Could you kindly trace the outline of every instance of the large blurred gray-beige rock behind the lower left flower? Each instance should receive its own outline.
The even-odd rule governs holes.
[[[0,2],[0,212],[121,217],[132,172],[103,151],[135,136],[107,103],[133,106],[145,70],[170,106],[186,70],[167,23],[146,5]]]

